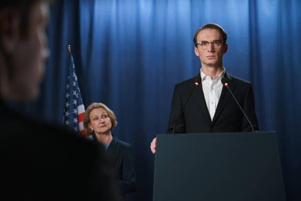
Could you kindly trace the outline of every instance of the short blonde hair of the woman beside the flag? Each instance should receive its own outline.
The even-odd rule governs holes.
[[[87,134],[94,134],[94,132],[91,131],[91,129],[89,128],[88,125],[90,123],[90,112],[95,108],[103,108],[104,110],[106,110],[106,112],[108,113],[108,116],[111,120],[111,124],[112,124],[111,130],[113,130],[117,126],[117,119],[116,119],[114,112],[109,107],[107,107],[107,105],[105,105],[103,103],[93,102],[88,106],[88,108],[84,114],[84,128],[85,128],[85,131],[87,132]]]

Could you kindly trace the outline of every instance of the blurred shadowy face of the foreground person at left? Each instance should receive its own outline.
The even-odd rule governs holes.
[[[45,71],[45,61],[50,51],[45,33],[49,19],[49,5],[40,1],[32,7],[27,35],[20,35],[12,55],[13,76],[11,84],[20,100],[32,100],[39,95],[40,82]]]

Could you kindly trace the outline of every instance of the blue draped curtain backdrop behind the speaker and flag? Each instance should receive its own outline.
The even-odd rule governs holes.
[[[199,73],[194,33],[217,23],[229,38],[224,67],[253,83],[260,129],[277,132],[287,200],[300,201],[300,10],[300,0],[57,0],[43,92],[19,106],[61,124],[70,44],[85,106],[108,105],[113,134],[133,147],[138,190],[128,200],[151,201],[150,142],[166,133],[174,85]]]

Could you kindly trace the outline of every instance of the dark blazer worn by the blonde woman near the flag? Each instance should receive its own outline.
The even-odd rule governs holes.
[[[92,137],[93,140],[97,141],[95,135],[92,135]],[[123,142],[113,135],[113,140],[106,151],[106,155],[118,181],[121,192],[120,200],[125,201],[125,194],[133,193],[137,188],[132,147],[129,143]]]

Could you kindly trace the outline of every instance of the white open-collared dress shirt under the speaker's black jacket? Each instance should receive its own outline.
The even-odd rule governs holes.
[[[223,71],[221,71],[219,75],[214,76],[213,79],[211,79],[210,76],[206,75],[201,68],[202,87],[211,121],[213,119],[218,100],[220,98],[220,94],[223,88],[223,84],[220,81],[225,74],[225,67],[223,68]]]

